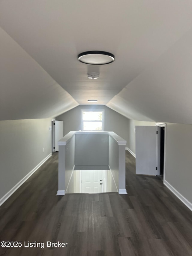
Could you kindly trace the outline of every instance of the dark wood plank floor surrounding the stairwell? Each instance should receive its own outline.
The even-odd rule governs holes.
[[[159,177],[136,175],[128,151],[128,195],[56,196],[57,174],[55,153],[0,207],[0,241],[22,242],[21,248],[0,247],[0,255],[192,255],[192,212]],[[24,247],[24,241],[45,245]],[[47,248],[46,241],[68,244]]]

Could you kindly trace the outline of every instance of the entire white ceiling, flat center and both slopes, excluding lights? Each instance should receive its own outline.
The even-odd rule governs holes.
[[[53,117],[93,98],[131,119],[192,123],[191,13],[192,0],[1,0],[0,119]],[[115,62],[79,62],[89,50]]]

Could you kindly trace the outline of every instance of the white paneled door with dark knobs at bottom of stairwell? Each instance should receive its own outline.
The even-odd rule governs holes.
[[[103,170],[82,170],[81,171],[81,193],[102,193],[103,192]]]

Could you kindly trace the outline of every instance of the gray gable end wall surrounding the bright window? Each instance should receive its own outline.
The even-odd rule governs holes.
[[[63,122],[64,135],[69,131],[81,130],[81,109],[104,109],[104,131],[114,131],[128,141],[129,119],[104,105],[79,105],[57,116]]]

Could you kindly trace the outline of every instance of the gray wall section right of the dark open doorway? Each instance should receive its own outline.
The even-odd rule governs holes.
[[[192,203],[192,125],[167,124],[165,180]]]

